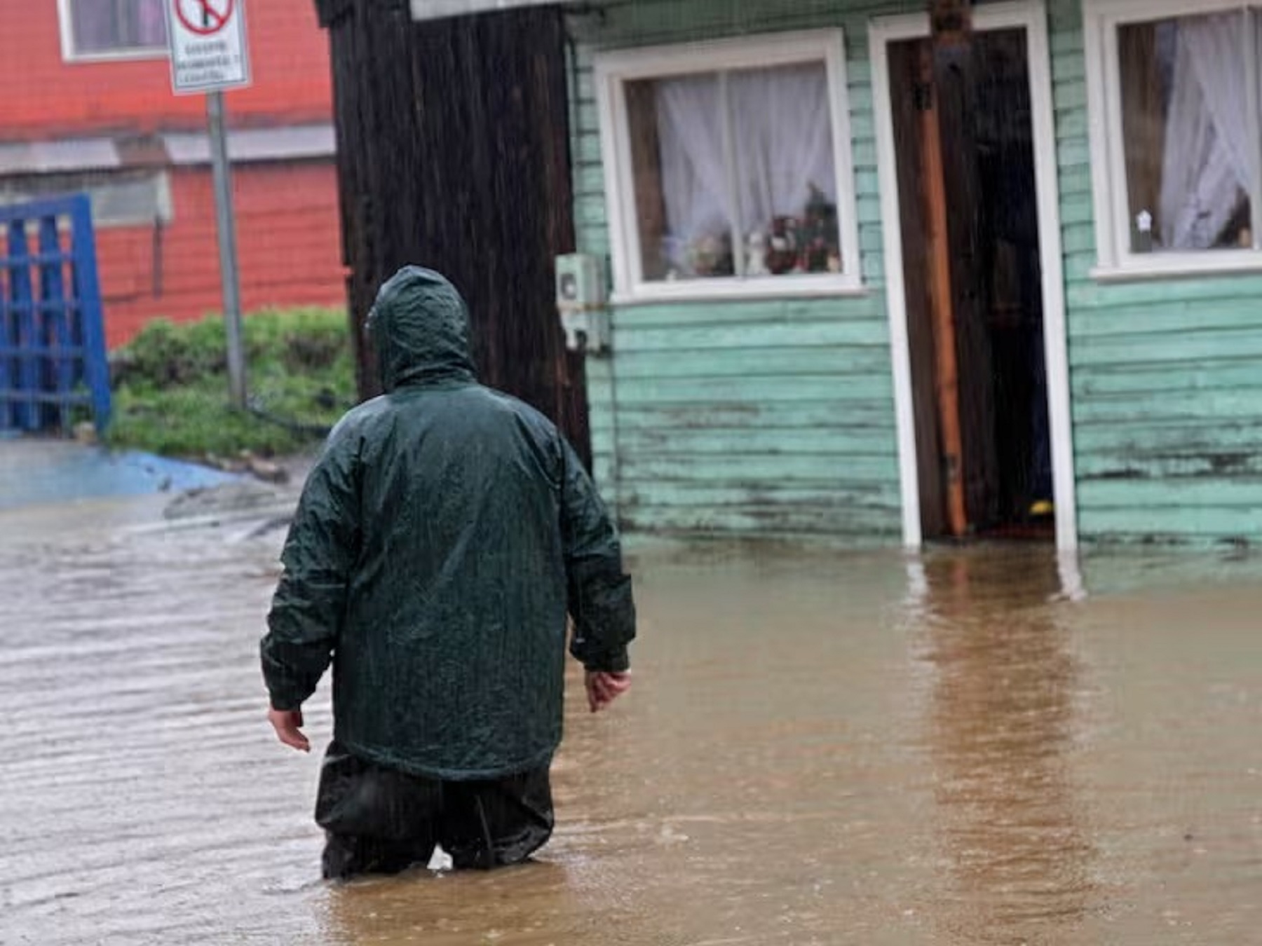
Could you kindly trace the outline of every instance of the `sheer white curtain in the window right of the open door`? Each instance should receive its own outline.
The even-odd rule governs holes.
[[[1256,72],[1246,57],[1258,49],[1259,21],[1241,11],[1179,20],[1161,169],[1166,247],[1213,247],[1252,187],[1257,124],[1246,110]]]

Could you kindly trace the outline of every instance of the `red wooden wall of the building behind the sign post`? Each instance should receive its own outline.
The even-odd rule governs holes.
[[[332,121],[328,37],[314,6],[247,0],[254,85],[226,95],[232,127]],[[203,96],[174,96],[165,58],[63,62],[56,0],[0,0],[0,143],[204,131]],[[237,164],[242,305],[345,305],[332,156]],[[107,343],[149,319],[221,310],[209,166],[170,169],[174,219],[101,227],[97,254]]]

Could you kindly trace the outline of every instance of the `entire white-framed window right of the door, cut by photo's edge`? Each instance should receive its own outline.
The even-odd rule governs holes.
[[[1262,6],[1089,9],[1102,266],[1262,266]]]

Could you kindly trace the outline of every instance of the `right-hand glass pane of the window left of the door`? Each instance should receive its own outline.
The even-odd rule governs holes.
[[[728,85],[747,274],[839,272],[824,64],[745,69]]]

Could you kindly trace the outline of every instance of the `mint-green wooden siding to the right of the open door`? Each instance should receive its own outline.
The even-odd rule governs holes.
[[[1082,537],[1262,541],[1262,276],[1092,277],[1082,5],[1050,19]]]

